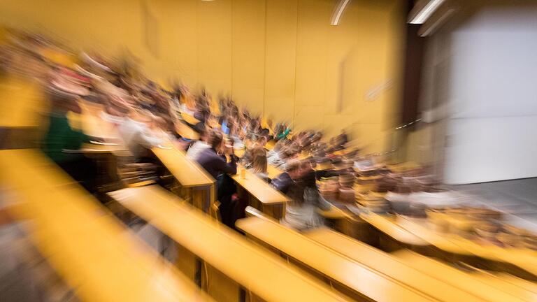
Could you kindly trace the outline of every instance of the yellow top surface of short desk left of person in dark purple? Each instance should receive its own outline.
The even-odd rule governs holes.
[[[187,159],[185,152],[171,143],[164,148],[152,148],[152,152],[162,161],[162,164],[173,174],[183,187],[199,187],[213,185],[215,180],[195,161]]]

